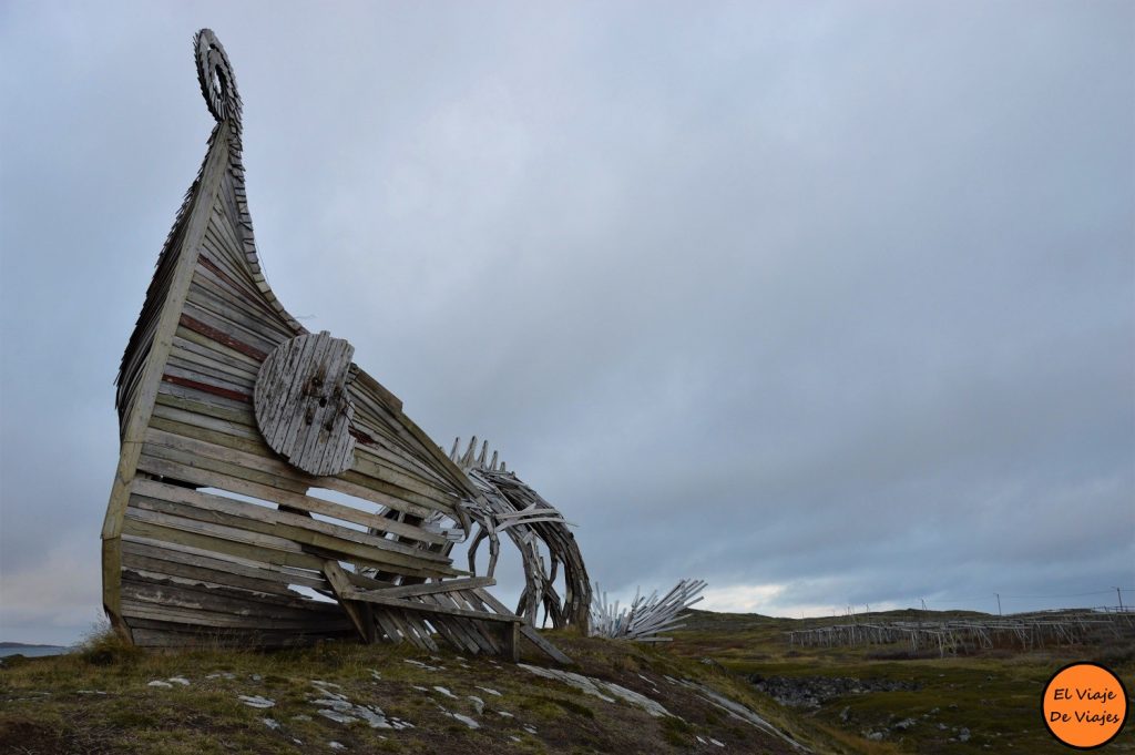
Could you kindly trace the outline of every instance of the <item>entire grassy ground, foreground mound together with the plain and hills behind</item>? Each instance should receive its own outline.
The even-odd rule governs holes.
[[[695,612],[662,647],[549,632],[570,679],[535,654],[145,653],[100,636],[0,664],[0,752],[1058,753],[1039,712],[1056,669],[1096,660],[1135,689],[1130,637],[955,657],[784,639],[824,621]],[[1135,752],[1132,725],[1108,752]]]

